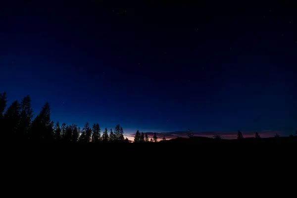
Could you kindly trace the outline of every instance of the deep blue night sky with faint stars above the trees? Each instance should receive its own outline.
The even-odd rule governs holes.
[[[49,101],[55,122],[120,124],[127,136],[297,130],[293,0],[82,2],[1,6],[8,104],[30,94],[35,115]]]

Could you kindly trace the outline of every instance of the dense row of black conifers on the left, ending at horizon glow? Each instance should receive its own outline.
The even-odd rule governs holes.
[[[0,94],[0,132],[7,141],[36,142],[129,142],[124,139],[124,131],[116,125],[114,131],[107,128],[101,134],[98,123],[93,126],[87,122],[83,128],[76,124],[54,123],[50,119],[50,106],[46,102],[40,113],[33,119],[31,98],[27,95],[18,102],[13,101],[6,107],[6,93]]]

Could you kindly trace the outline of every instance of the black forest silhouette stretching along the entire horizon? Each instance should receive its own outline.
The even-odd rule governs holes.
[[[24,97],[21,102],[13,101],[7,105],[6,93],[0,94],[0,130],[4,140],[14,142],[65,142],[65,143],[129,143],[124,138],[124,131],[120,125],[116,125],[114,130],[105,128],[102,132],[99,123],[92,126],[87,122],[82,128],[76,124],[60,124],[59,121],[54,123],[50,119],[50,106],[46,102],[40,112],[34,117],[31,98],[29,95]],[[295,136],[280,137],[275,134],[273,138],[261,138],[259,133],[255,133],[254,138],[244,138],[241,131],[238,131],[237,139],[224,140],[220,135],[214,135],[213,138],[195,137],[194,133],[188,129],[188,138],[176,137],[175,139],[166,140],[165,136],[158,141],[157,133],[148,137],[147,133],[137,130],[134,137],[134,143],[198,143],[198,142],[296,142],[297,131]],[[160,135],[159,135],[160,136]]]

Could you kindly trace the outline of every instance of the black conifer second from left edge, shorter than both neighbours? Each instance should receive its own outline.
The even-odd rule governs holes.
[[[2,136],[5,137],[5,140],[15,141],[22,138],[22,134],[18,134],[17,130],[20,120],[20,106],[17,100],[12,102],[12,104],[4,111],[2,120],[2,127],[5,129],[5,133],[2,134]]]

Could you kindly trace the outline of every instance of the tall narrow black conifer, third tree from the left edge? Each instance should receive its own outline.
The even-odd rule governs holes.
[[[24,139],[28,139],[30,134],[30,127],[33,119],[33,109],[31,105],[31,98],[27,95],[21,101],[21,115],[19,123],[19,134],[22,134]],[[32,132],[32,131],[31,131]]]

